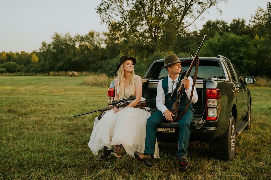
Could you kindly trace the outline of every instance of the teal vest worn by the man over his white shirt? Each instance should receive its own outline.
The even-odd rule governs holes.
[[[180,78],[180,74],[179,74],[179,78]],[[178,79],[179,79],[178,78]],[[162,80],[162,88],[164,89],[164,93],[165,93],[165,105],[167,107],[168,110],[171,110],[172,106],[173,106],[173,103],[176,101],[177,99],[177,95],[175,95],[174,97],[174,101],[170,101],[169,98],[170,98],[170,95],[171,93],[167,93],[168,91],[168,82],[167,82],[167,79],[168,79],[168,76],[164,77],[164,79]],[[186,104],[188,103],[189,99],[187,98],[187,95],[185,93],[185,88],[182,88],[182,97],[180,98],[180,106],[179,107],[185,107]],[[193,109],[192,107],[192,103],[190,102],[189,103],[189,108]]]

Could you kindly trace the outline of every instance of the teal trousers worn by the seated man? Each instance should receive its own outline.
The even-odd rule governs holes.
[[[171,109],[171,108],[170,108]],[[185,109],[184,106],[179,107],[179,114]],[[179,126],[179,149],[177,152],[178,158],[180,156],[187,156],[188,143],[190,138],[190,124],[193,119],[193,111],[192,106],[188,108],[185,115],[178,122]],[[146,129],[146,139],[145,139],[145,151],[144,153],[154,155],[155,148],[155,140],[156,140],[156,128],[161,122],[165,121],[165,117],[161,113],[161,111],[155,111],[148,119],[147,119],[147,129]]]

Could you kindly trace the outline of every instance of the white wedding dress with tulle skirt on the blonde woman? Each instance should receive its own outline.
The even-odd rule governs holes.
[[[135,96],[132,91],[132,87],[126,88],[125,92],[122,93],[124,96],[120,97],[120,99],[129,98],[131,95]],[[119,88],[117,92],[120,94]],[[144,100],[145,98],[141,98],[141,101]],[[151,116],[151,113],[148,111],[133,107],[121,110],[116,114],[114,110],[106,111],[100,120],[98,120],[98,117],[95,118],[88,144],[90,150],[94,155],[98,155],[98,151],[103,149],[104,146],[110,150],[114,145],[122,144],[126,153],[132,157],[134,157],[136,151],[144,153],[146,122],[149,116]],[[160,158],[157,140],[154,158]]]

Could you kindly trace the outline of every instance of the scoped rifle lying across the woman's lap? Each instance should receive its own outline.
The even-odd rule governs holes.
[[[83,113],[83,114],[74,115],[73,117],[82,116],[82,115],[89,114],[89,113],[95,113],[95,112],[98,112],[98,111],[104,112],[104,111],[107,111],[107,110],[111,110],[114,107],[116,107],[116,108],[126,107],[126,106],[128,106],[130,104],[130,102],[128,102],[128,101],[132,101],[134,99],[136,99],[136,97],[131,96],[130,98],[122,99],[120,101],[112,101],[113,106],[106,107],[106,108],[103,108],[103,109],[100,109],[100,110],[90,111],[90,112]],[[139,109],[146,110],[144,107],[154,107],[155,106],[155,101],[156,101],[155,99],[147,99],[145,101],[140,101],[136,106],[134,106],[134,108],[139,108]],[[102,117],[102,113],[98,116],[98,119],[101,119],[101,117]]]

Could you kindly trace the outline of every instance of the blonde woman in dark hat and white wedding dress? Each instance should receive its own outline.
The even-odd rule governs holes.
[[[134,74],[135,64],[135,58],[127,55],[120,58],[118,76],[114,82],[114,100],[129,98],[131,95],[136,96],[136,99],[124,108],[115,107],[106,111],[100,120],[95,118],[88,146],[94,155],[98,155],[98,151],[102,149],[98,161],[105,160],[109,155],[121,159],[123,148],[132,157],[136,151],[144,152],[146,121],[151,114],[146,110],[133,108],[145,100],[141,97],[141,78]],[[159,158],[157,141],[154,158]]]

